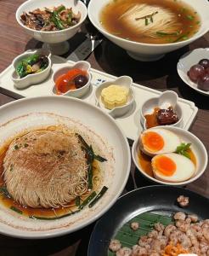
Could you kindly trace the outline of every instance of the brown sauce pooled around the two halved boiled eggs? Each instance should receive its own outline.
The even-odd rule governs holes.
[[[188,150],[188,154],[189,154],[190,160],[196,166],[195,154],[190,149]],[[151,160],[152,160],[152,157],[148,156],[147,154],[144,154],[141,150],[139,151],[139,153],[138,153],[139,166],[141,166],[142,170],[146,174],[148,174],[150,177],[154,177],[154,174],[153,174],[153,171],[152,171],[152,166],[151,166]]]

